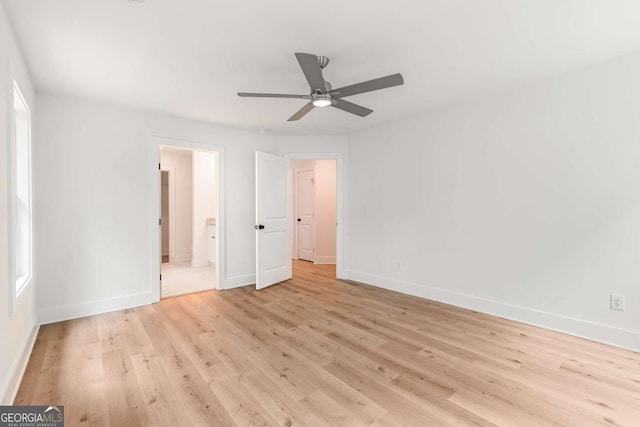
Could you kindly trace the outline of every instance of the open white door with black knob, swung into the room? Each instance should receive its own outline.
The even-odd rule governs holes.
[[[291,273],[291,160],[256,152],[256,289]]]

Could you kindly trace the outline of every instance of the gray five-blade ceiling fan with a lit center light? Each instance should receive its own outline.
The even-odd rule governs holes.
[[[296,58],[302,68],[304,76],[309,82],[311,94],[309,95],[287,95],[281,93],[247,93],[238,92],[238,96],[255,97],[255,98],[298,98],[308,99],[309,102],[298,112],[289,118],[288,121],[300,120],[309,111],[315,107],[335,107],[348,113],[365,117],[373,110],[362,107],[361,105],[345,101],[344,97],[357,95],[359,93],[372,92],[374,90],[386,89],[388,87],[399,86],[404,83],[404,79],[400,73],[392,74],[378,79],[368,80],[354,85],[344,86],[333,89],[331,84],[322,77],[322,70],[329,64],[329,58],[326,56],[318,56],[310,53],[296,53]]]

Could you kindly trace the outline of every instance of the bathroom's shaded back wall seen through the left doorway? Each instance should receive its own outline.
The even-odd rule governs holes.
[[[175,254],[170,254],[170,262],[191,261],[193,246],[193,166],[191,151],[169,149],[163,147],[160,150],[160,165],[162,169],[169,170],[173,175],[175,200],[173,209],[174,218],[169,218],[169,224],[174,226],[169,232],[174,242],[169,242]],[[164,238],[164,236],[163,236]],[[175,246],[174,246],[175,245]]]

